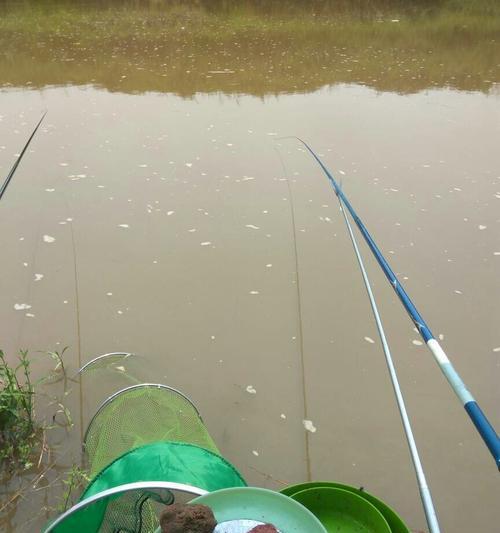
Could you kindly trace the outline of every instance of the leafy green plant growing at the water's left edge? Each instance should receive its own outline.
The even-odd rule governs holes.
[[[11,366],[0,350],[0,471],[27,470],[40,429],[34,420],[34,388],[27,351]]]

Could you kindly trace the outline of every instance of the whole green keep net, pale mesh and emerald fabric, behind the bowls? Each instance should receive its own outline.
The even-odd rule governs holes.
[[[191,487],[198,495],[246,486],[194,404],[165,385],[143,383],[110,396],[90,421],[84,450],[91,481],[46,532],[152,533],[176,495],[159,485]]]

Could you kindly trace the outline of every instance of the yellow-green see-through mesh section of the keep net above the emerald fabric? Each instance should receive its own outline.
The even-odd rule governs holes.
[[[158,441],[187,442],[219,452],[186,397],[163,385],[142,384],[115,394],[90,422],[84,439],[90,477],[124,453]]]

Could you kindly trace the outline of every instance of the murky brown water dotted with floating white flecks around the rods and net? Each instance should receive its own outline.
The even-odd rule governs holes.
[[[72,374],[102,353],[142,354],[141,379],[187,393],[250,484],[362,485],[425,530],[336,198],[303,148],[280,137],[306,139],[342,181],[498,428],[498,65],[488,78],[464,75],[462,87],[433,83],[432,72],[421,85],[411,76],[391,85],[383,72],[379,85],[362,70],[337,79],[332,67],[308,90],[258,75],[245,88],[233,60],[219,56],[170,86],[140,69],[131,75],[132,64],[108,83],[88,66],[111,60],[107,52],[83,61],[81,51],[78,65],[60,53],[50,60],[41,47],[28,62],[11,57],[0,74],[2,176],[48,110],[0,205],[1,348],[10,358],[29,349],[36,376],[52,365],[38,350],[68,346]],[[255,63],[267,53],[259,50]],[[460,55],[448,61],[458,65]],[[493,533],[495,465],[362,251],[442,529]],[[75,427],[57,438],[78,458],[82,431],[113,387],[88,380],[72,388]],[[21,498],[2,527],[39,527],[51,497]]]

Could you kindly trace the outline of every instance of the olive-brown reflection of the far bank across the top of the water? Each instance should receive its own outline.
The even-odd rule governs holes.
[[[263,96],[337,83],[489,91],[500,81],[495,0],[0,6],[0,86]]]

